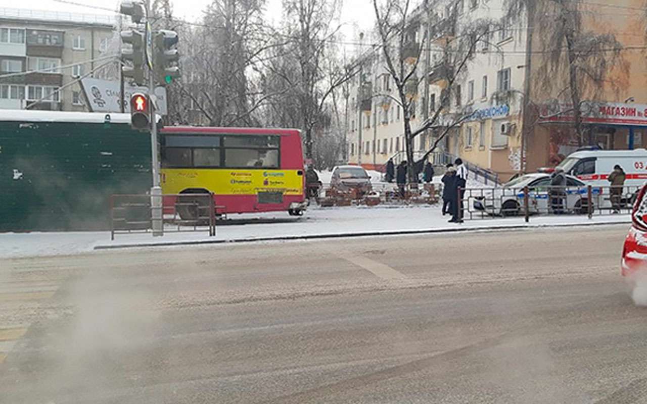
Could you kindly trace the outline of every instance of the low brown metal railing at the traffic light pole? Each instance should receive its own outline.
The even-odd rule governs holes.
[[[164,194],[164,232],[208,231],[215,236],[217,209],[213,193]],[[151,195],[113,194],[110,196],[110,239],[117,233],[148,232],[152,229]]]

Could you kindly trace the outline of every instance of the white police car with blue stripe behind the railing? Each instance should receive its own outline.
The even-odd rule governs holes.
[[[528,210],[530,213],[549,211],[551,175],[532,173],[519,176],[507,182],[500,188],[484,190],[480,193],[472,191],[474,209],[490,215],[512,216],[523,212],[523,188],[528,187]],[[598,194],[600,189],[593,188],[592,193]],[[586,213],[588,211],[588,189],[584,182],[574,176],[566,176],[565,211]]]

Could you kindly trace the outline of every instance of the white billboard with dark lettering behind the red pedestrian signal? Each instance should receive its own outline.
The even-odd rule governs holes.
[[[91,112],[121,112],[119,81],[101,80],[97,78],[81,79],[81,87],[85,93]],[[124,112],[130,112],[131,95],[135,92],[148,92],[146,87],[135,87],[124,83]],[[166,88],[156,87],[157,114],[166,115]]]

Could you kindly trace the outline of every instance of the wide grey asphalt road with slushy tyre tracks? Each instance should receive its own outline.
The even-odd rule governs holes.
[[[626,230],[3,260],[0,402],[647,402]]]

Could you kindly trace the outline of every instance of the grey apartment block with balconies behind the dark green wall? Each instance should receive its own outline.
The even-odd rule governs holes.
[[[72,82],[108,60],[115,28],[111,16],[0,8],[0,109],[88,111]]]

